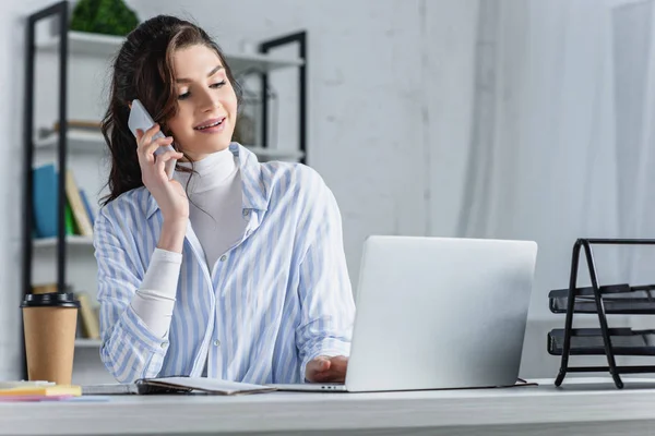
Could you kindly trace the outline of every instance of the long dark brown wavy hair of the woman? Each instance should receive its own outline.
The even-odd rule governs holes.
[[[143,186],[136,156],[136,138],[128,128],[130,102],[138,98],[165,135],[166,122],[177,113],[177,93],[172,59],[176,50],[204,45],[214,50],[241,101],[241,87],[235,81],[221,47],[200,26],[171,15],[157,15],[132,31],[112,64],[109,105],[100,129],[111,155],[106,205],[119,195]],[[184,150],[179,150],[184,153]],[[189,156],[184,155],[189,160]],[[178,170],[189,171],[178,167]],[[191,170],[192,171],[192,170]]]

